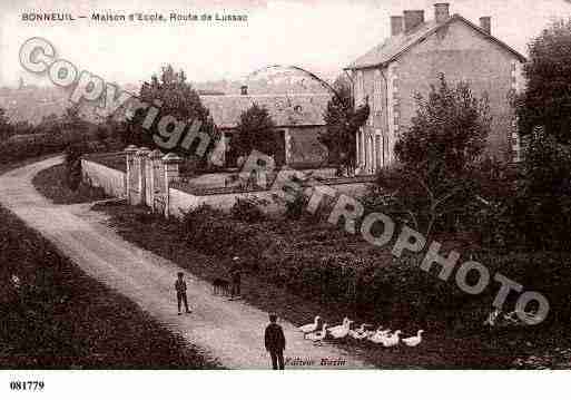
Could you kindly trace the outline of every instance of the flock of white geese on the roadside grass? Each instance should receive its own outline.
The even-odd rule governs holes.
[[[324,323],[321,330],[318,329],[319,321],[321,316],[316,315],[313,323],[299,326],[299,331],[303,332],[304,339],[311,340],[314,343],[321,343],[327,338],[327,335],[331,335],[333,339],[353,338],[355,340],[368,340],[373,343],[382,344],[385,348],[393,348],[398,345],[400,342],[414,348],[421,344],[422,333],[424,332],[421,329],[415,336],[401,339],[401,331],[392,332],[390,329],[384,329],[383,326],[378,326],[376,331],[371,331],[367,330],[367,326],[371,325],[366,323],[363,323],[361,328],[356,330],[352,330],[351,324],[354,321],[346,316],[343,319],[343,323],[341,325],[328,328],[328,325]]]

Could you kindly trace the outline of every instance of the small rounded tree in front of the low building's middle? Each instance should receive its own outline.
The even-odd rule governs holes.
[[[276,157],[276,124],[265,107],[253,104],[240,115],[232,147],[238,156],[247,157],[253,150]]]

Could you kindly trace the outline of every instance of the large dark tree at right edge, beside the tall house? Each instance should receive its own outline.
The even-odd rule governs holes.
[[[529,45],[525,91],[515,100],[525,146],[513,224],[524,244],[569,248],[571,232],[571,19]],[[508,202],[510,204],[510,202]]]

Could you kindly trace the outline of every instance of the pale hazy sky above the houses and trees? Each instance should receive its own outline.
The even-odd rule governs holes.
[[[390,16],[437,0],[1,0],[0,85],[48,85],[18,61],[31,37],[53,43],[59,57],[119,84],[140,84],[173,64],[195,81],[245,79],[268,65],[295,65],[332,77],[390,35]],[[526,53],[526,43],[553,19],[571,17],[567,0],[449,0],[451,13],[478,23],[492,17],[494,36]],[[246,14],[247,22],[22,21],[26,12],[170,12]]]

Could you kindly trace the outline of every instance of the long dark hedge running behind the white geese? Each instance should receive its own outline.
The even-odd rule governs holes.
[[[343,235],[326,224],[294,240],[294,235],[280,234],[278,223],[273,224],[245,224],[203,206],[185,216],[180,230],[188,245],[210,255],[242,255],[250,273],[308,299],[351,306],[356,318],[482,329],[500,289],[492,280],[483,293],[466,294],[457,287],[454,275],[443,282],[436,276],[437,267],[421,270],[422,255],[395,258],[385,250],[380,256],[383,251],[374,247],[345,251],[347,241],[343,240],[332,252],[331,246],[318,245],[319,238]],[[303,242],[307,238],[311,245]],[[358,242],[355,236],[348,240]],[[498,271],[525,290],[545,294],[552,304],[549,321],[568,321],[571,316],[567,306],[571,300],[569,254],[480,254],[476,260],[490,269],[491,276]],[[508,299],[508,310],[515,300],[513,295]]]

